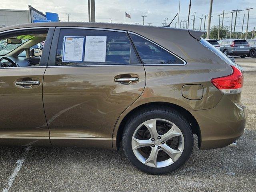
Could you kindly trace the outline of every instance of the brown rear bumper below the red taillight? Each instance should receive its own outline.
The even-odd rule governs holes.
[[[226,147],[244,133],[248,112],[242,103],[235,102],[239,97],[224,95],[216,107],[191,112],[200,126],[200,150]]]

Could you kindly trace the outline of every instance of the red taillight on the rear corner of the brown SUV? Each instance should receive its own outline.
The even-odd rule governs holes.
[[[224,94],[235,94],[242,91],[244,76],[238,68],[231,67],[233,69],[231,75],[213,78],[211,80],[212,84]]]

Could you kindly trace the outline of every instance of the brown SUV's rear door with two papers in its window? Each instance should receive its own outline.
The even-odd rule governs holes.
[[[126,31],[56,28],[43,89],[51,143],[112,148],[118,117],[145,83]]]

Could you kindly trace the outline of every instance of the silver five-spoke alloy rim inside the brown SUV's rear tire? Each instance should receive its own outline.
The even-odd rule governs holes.
[[[174,123],[150,119],[134,131],[132,150],[143,164],[154,168],[166,167],[180,158],[184,150],[184,136]]]

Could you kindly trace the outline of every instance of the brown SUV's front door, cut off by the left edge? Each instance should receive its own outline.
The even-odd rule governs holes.
[[[18,57],[19,53],[13,53],[16,50],[0,56],[2,64],[7,62],[4,58],[9,58],[22,66],[10,67],[7,62],[0,67],[0,144],[50,145],[42,102],[42,86],[53,33],[54,28],[35,28],[14,32],[10,30],[0,34],[0,40],[9,38],[8,36],[30,36],[31,39],[26,39],[27,46],[33,44],[34,39],[38,41],[47,34],[47,47],[42,52],[39,66],[30,66],[30,58]],[[25,43],[20,45],[22,46],[24,47]]]

